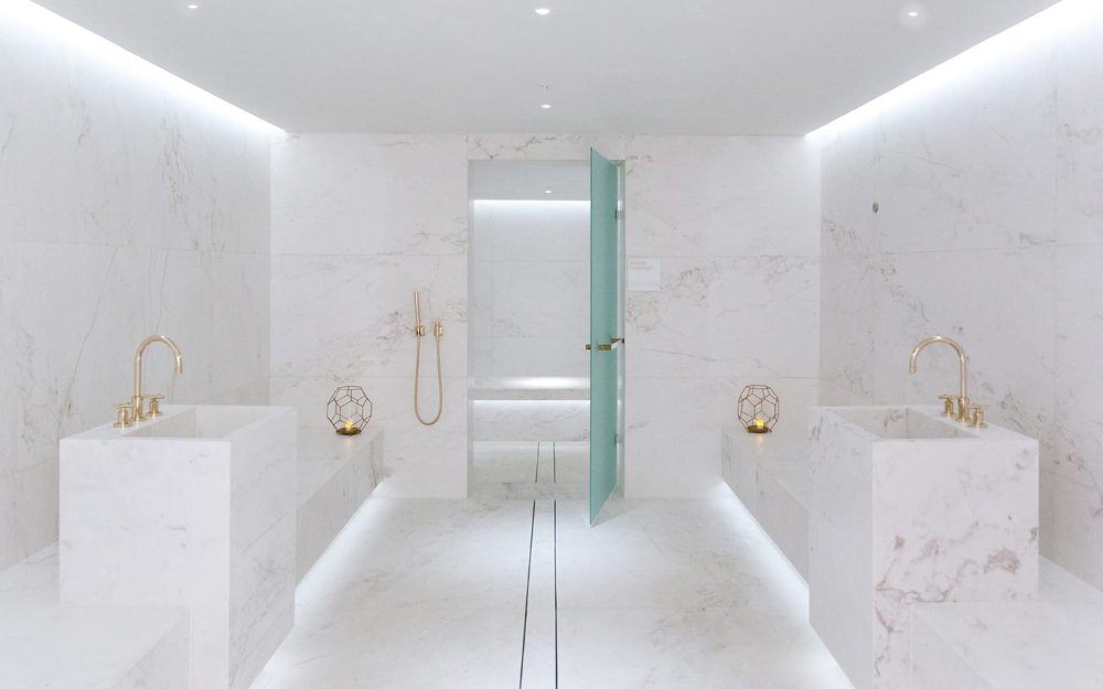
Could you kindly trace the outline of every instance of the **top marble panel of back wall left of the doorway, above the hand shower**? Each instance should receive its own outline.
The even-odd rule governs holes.
[[[462,255],[467,160],[458,137],[308,134],[274,151],[272,251]]]

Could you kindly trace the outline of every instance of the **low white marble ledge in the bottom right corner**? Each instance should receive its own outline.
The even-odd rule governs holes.
[[[1045,558],[1037,600],[917,605],[914,614],[912,689],[1103,686],[1103,591]]]

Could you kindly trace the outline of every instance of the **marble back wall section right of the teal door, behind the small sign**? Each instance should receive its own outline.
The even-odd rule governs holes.
[[[818,388],[818,151],[803,139],[631,137],[629,257],[662,290],[628,293],[625,491],[698,496],[745,385],[804,426]],[[769,440],[769,439],[768,439]]]

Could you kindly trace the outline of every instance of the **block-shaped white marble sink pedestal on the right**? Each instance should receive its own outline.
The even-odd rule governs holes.
[[[811,422],[812,626],[856,689],[908,689],[912,604],[1036,595],[1038,442],[934,407]]]

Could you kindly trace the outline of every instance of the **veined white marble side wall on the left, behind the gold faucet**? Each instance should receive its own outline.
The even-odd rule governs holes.
[[[114,416],[133,352],[176,401],[268,399],[274,130],[0,7],[0,568],[57,536],[57,440]],[[32,8],[33,9],[33,8]]]

